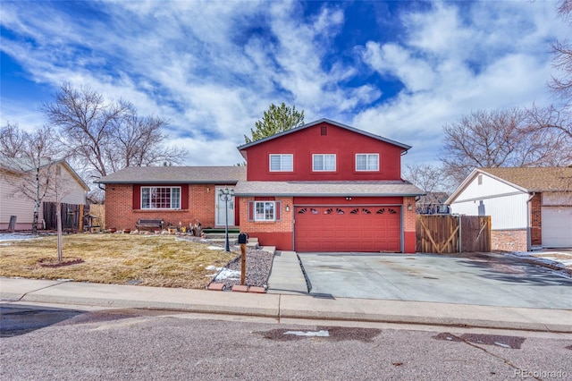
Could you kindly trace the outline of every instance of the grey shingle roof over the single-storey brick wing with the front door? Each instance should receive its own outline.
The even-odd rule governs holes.
[[[130,166],[97,180],[102,184],[210,183],[246,180],[246,166]]]

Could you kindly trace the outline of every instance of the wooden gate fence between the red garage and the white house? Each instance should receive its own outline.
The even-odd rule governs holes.
[[[416,216],[416,250],[438,254],[491,251],[491,216]]]

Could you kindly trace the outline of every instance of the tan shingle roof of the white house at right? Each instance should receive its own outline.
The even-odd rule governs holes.
[[[479,168],[527,191],[572,191],[572,167]]]

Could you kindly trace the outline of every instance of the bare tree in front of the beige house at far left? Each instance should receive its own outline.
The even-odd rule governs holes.
[[[49,126],[33,132],[7,123],[0,131],[2,176],[16,195],[34,201],[32,233],[38,233],[39,207],[52,186],[52,160],[59,152],[55,133]]]

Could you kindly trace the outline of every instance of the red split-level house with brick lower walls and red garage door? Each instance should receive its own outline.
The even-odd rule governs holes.
[[[138,218],[232,225],[297,251],[415,252],[416,197],[401,180],[410,147],[322,119],[239,147],[246,167],[140,167],[105,176],[107,226]],[[234,190],[229,209],[217,197]]]

